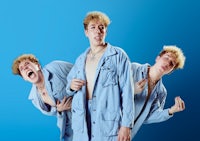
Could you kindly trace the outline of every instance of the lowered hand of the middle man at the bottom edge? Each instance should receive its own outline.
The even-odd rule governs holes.
[[[130,138],[131,138],[130,128],[123,126],[120,127],[117,141],[130,141]]]

